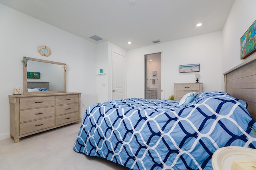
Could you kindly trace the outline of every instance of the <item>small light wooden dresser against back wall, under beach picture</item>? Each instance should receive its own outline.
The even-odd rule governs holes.
[[[201,93],[203,83],[174,83],[174,100],[180,100],[189,92]]]

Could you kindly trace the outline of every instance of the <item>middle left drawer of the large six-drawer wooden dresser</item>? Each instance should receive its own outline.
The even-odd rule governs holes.
[[[20,122],[54,116],[54,106],[20,111]]]

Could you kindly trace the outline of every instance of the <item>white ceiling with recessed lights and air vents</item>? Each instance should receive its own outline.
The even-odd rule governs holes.
[[[0,0],[0,3],[88,41],[110,41],[130,50],[153,45],[155,40],[163,43],[220,31],[234,0],[135,0],[135,4],[129,0]],[[199,22],[203,25],[196,27]],[[93,35],[102,40],[89,38]]]

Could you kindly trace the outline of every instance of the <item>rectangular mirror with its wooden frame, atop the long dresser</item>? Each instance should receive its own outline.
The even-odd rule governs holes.
[[[66,64],[23,57],[23,93],[66,93]]]

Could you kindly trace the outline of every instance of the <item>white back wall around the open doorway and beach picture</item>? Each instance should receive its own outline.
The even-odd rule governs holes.
[[[162,52],[164,98],[177,82],[196,82],[198,72],[180,73],[183,64],[200,64],[203,91],[221,91],[222,31],[127,51],[127,97],[144,98],[144,55]]]

